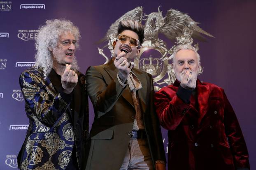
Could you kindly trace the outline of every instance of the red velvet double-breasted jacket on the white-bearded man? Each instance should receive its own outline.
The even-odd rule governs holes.
[[[197,102],[191,95],[185,103],[179,88],[176,80],[155,94],[160,123],[168,129],[168,169],[249,169],[244,137],[224,90],[197,80]]]

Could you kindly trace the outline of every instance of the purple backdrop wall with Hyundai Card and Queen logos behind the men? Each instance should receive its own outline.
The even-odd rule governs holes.
[[[28,5],[39,4],[35,9]],[[41,4],[41,5],[40,5]],[[28,118],[19,87],[19,75],[34,61],[35,41],[39,25],[46,19],[67,18],[81,32],[80,49],[76,56],[80,71],[99,65],[105,59],[98,54],[95,44],[105,36],[109,26],[120,16],[137,6],[149,14],[168,9],[188,13],[200,27],[216,38],[199,42],[199,53],[204,73],[200,80],[224,88],[239,119],[249,150],[251,169],[256,169],[256,125],[254,120],[256,80],[256,1],[255,0],[10,0],[0,1],[0,170],[16,169],[16,155],[26,135]],[[160,35],[161,36],[161,35]],[[161,36],[170,48],[172,42]],[[109,52],[104,51],[110,55]],[[93,108],[90,103],[90,122]],[[167,133],[163,130],[165,150]]]

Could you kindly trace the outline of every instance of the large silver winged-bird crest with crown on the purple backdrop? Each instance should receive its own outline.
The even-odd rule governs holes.
[[[160,85],[171,85],[175,81],[175,75],[173,72],[172,60],[174,47],[168,49],[166,42],[158,37],[158,34],[164,34],[165,37],[171,41],[175,41],[178,37],[184,36],[189,32],[188,37],[190,39],[205,39],[203,35],[213,37],[208,32],[202,30],[197,24],[198,22],[182,12],[169,9],[163,17],[162,11],[158,7],[158,12],[152,12],[151,14],[143,14],[143,7],[136,7],[135,9],[128,11],[121,16],[110,26],[107,34],[103,38],[103,41],[108,41],[108,48],[114,55],[112,44],[116,41],[117,27],[122,20],[134,20],[140,23],[144,23],[144,42],[141,44],[140,53],[135,57],[132,62],[135,68],[142,71],[146,71],[151,74],[154,81],[155,90],[160,90]],[[181,38],[182,39],[182,38]],[[187,39],[187,37],[185,37]],[[192,41],[193,42],[193,41]],[[106,46],[105,46],[106,47]],[[105,48],[103,47],[103,48]],[[105,57],[107,63],[108,57],[103,53],[103,49],[98,48],[100,55]]]

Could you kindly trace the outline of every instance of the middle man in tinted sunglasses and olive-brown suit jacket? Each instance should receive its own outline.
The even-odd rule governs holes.
[[[165,170],[152,76],[131,68],[143,39],[140,23],[121,21],[112,60],[86,71],[95,113],[86,170]]]

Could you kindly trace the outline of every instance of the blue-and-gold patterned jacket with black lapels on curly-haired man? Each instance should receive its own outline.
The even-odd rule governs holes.
[[[76,72],[78,83],[69,103],[63,98],[54,70],[46,80],[40,68],[32,67],[21,74],[19,83],[29,119],[26,139],[18,155],[21,170],[65,170],[74,145],[79,169],[84,169],[88,97],[85,76]]]

